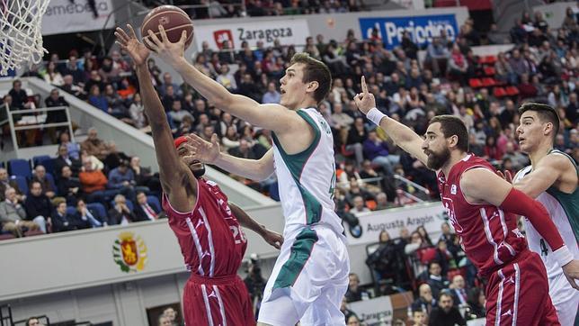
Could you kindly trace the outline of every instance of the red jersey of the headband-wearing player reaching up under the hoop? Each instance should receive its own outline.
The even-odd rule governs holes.
[[[163,209],[185,266],[200,276],[236,275],[247,247],[245,234],[219,186],[202,178],[197,185],[197,203],[189,213],[175,211],[163,195]]]

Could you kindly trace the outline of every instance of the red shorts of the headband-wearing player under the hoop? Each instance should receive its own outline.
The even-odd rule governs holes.
[[[255,325],[251,298],[239,276],[192,274],[183,289],[186,326]]]

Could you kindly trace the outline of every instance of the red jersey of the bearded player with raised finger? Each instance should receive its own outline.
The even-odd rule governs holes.
[[[460,189],[460,177],[471,168],[495,171],[485,159],[469,154],[450,169],[448,177],[439,172],[438,186],[462,249],[479,274],[488,276],[527,249],[527,242],[517,228],[514,214],[492,204],[468,203]]]

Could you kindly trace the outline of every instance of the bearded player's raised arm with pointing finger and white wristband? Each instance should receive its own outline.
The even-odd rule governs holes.
[[[362,93],[354,96],[354,102],[358,106],[361,113],[366,114],[371,122],[379,125],[384,131],[386,131],[388,137],[390,137],[397,146],[404,149],[407,153],[414,156],[426,166],[426,161],[428,157],[424,154],[422,149],[423,139],[416,132],[412,131],[410,128],[406,127],[404,124],[397,122],[396,120],[388,117],[387,115],[380,113],[376,108],[376,100],[374,95],[368,92],[368,86],[366,85],[366,78],[361,77],[361,87]]]

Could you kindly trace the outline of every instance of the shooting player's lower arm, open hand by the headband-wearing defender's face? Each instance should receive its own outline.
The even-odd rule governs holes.
[[[189,149],[190,156],[185,157],[185,161],[198,159],[205,164],[218,166],[234,175],[255,181],[263,181],[274,172],[273,149],[268,150],[260,159],[236,158],[219,149],[218,136],[215,133],[211,136],[211,142],[194,133],[186,138],[187,143],[184,146]]]

